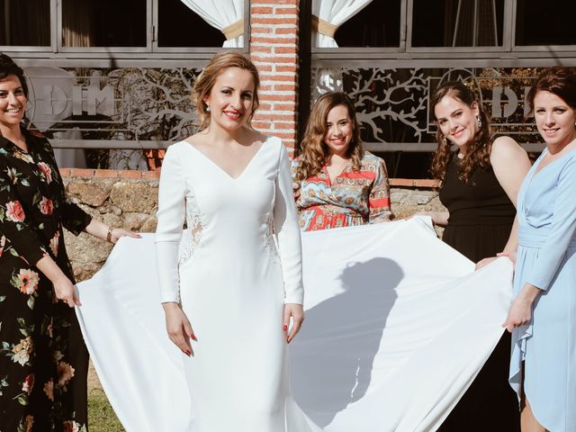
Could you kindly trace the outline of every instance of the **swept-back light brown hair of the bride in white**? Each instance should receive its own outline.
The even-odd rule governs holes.
[[[258,69],[254,66],[248,58],[244,57],[237,51],[220,51],[215,54],[208,64],[202,69],[202,74],[198,76],[193,87],[193,103],[196,105],[196,112],[200,117],[200,127],[205,129],[210,124],[210,111],[208,111],[207,105],[204,102],[204,97],[210,94],[216,78],[220,76],[224,70],[229,67],[238,67],[243,70],[247,70],[252,74],[254,78],[254,95],[252,112],[247,117],[247,123],[252,121],[254,112],[258,109],[258,87],[260,86],[260,76],[258,76]]]

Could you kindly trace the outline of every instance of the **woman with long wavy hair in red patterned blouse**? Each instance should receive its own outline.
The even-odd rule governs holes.
[[[383,159],[364,151],[354,104],[344,93],[320,96],[293,160],[293,188],[303,231],[391,220]]]

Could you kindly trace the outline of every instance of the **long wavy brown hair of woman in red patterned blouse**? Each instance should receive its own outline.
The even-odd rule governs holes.
[[[348,116],[353,124],[352,139],[347,148],[347,157],[352,159],[352,169],[360,170],[360,161],[364,156],[362,140],[360,139],[360,125],[356,120],[354,103],[347,94],[342,92],[329,92],[322,94],[312,107],[304,138],[300,144],[302,148],[301,163],[296,172],[296,181],[302,181],[320,173],[322,166],[328,162],[330,151],[324,142],[328,131],[328,114],[332,108],[338,105],[347,107]]]

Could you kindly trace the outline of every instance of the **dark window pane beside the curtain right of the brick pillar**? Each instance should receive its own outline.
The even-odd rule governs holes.
[[[343,23],[338,47],[399,47],[401,0],[375,1]]]

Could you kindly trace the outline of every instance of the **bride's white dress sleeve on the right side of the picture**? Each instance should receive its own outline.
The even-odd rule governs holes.
[[[275,181],[274,224],[284,276],[284,302],[303,304],[302,241],[293,199],[290,159],[284,145]]]

